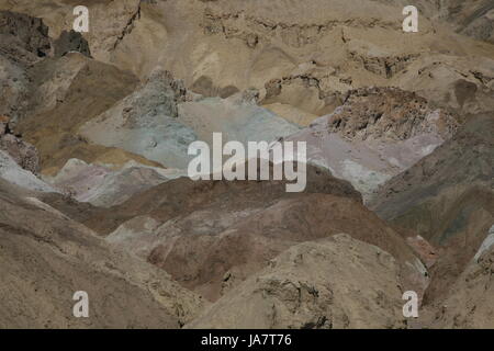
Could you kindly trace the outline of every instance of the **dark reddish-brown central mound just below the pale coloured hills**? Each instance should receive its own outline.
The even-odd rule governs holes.
[[[424,288],[424,265],[360,194],[325,170],[307,172],[303,193],[287,193],[284,181],[171,180],[86,223],[212,301],[289,247],[338,233],[389,251],[404,284]]]

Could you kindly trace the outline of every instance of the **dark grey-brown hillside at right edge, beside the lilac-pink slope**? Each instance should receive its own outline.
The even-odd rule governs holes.
[[[370,203],[382,218],[439,248],[426,303],[450,294],[494,223],[493,135],[491,115],[473,118]]]

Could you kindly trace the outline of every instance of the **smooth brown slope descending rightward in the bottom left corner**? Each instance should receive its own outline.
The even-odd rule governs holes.
[[[168,274],[34,196],[0,181],[1,328],[179,328],[201,308]],[[77,291],[89,318],[72,315]]]

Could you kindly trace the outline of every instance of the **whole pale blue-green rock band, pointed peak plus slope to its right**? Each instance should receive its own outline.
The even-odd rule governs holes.
[[[273,141],[299,128],[239,95],[187,97],[180,81],[161,69],[139,89],[80,128],[88,140],[142,155],[168,167],[187,169],[188,147],[198,139],[212,147],[214,132],[224,143]],[[195,101],[187,101],[195,100]]]

